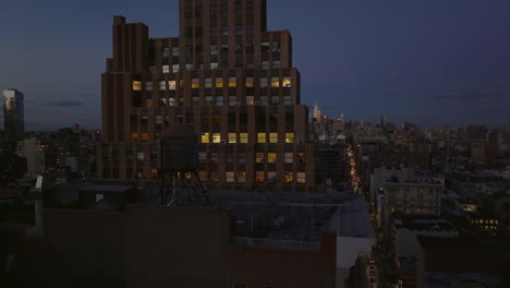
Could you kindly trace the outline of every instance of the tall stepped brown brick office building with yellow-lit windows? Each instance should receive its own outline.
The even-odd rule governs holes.
[[[149,38],[113,19],[102,74],[106,179],[156,179],[158,137],[175,122],[199,139],[198,175],[217,189],[314,191],[314,144],[288,31],[267,31],[266,0],[180,0],[180,37]]]

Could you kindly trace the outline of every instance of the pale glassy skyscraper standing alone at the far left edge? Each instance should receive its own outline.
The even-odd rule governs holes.
[[[25,115],[23,108],[23,93],[16,89],[3,92],[3,124],[5,139],[22,140],[25,133]]]

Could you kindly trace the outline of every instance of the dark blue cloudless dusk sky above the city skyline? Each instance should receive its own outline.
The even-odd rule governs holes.
[[[178,0],[0,4],[0,89],[25,93],[28,129],[100,127],[111,22],[178,35]],[[510,122],[510,1],[268,0],[289,28],[303,101],[331,117],[424,127]]]

